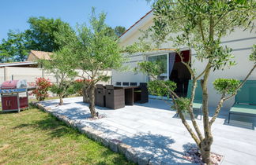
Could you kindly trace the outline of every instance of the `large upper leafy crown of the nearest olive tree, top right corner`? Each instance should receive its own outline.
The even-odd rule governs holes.
[[[238,27],[255,28],[255,1],[157,0],[152,7],[152,41],[194,49],[198,60],[210,61],[213,70],[235,64],[232,49],[221,45],[221,38]]]

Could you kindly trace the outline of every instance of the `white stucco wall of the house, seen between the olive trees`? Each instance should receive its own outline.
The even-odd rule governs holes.
[[[254,23],[255,24],[255,23]],[[121,46],[128,46],[137,41],[137,38],[141,35],[139,29],[146,30],[152,25],[152,15],[149,15],[145,19],[143,24],[141,23],[140,27],[134,27],[133,31],[128,31],[125,36],[123,36],[121,41]],[[135,30],[136,29],[136,30]],[[220,95],[216,94],[216,91],[213,89],[213,81],[217,78],[232,78],[232,79],[243,79],[247,73],[252,68],[253,63],[248,60],[249,54],[251,53],[252,46],[256,43],[255,31],[243,31],[242,29],[236,29],[230,35],[222,38],[222,44],[233,49],[232,54],[235,56],[235,61],[237,64],[232,68],[227,68],[224,71],[215,71],[211,72],[209,76],[209,106],[215,107],[217,101],[219,101]],[[171,48],[171,42],[164,43],[162,48]],[[200,73],[204,69],[205,63],[201,63],[195,59],[195,53],[192,49],[192,61],[195,61],[192,65],[196,68],[197,72]],[[157,53],[159,53],[158,51]],[[171,51],[169,51],[171,52]],[[115,82],[146,82],[147,76],[143,74],[135,75],[132,72],[133,68],[136,66],[137,62],[145,61],[145,56],[142,54],[132,55],[130,57],[130,63],[125,65],[130,66],[130,72],[116,72],[113,71],[112,79],[113,83]],[[249,79],[256,80],[256,71],[250,75]],[[224,104],[224,108],[230,108],[234,103],[234,98],[227,101]]]

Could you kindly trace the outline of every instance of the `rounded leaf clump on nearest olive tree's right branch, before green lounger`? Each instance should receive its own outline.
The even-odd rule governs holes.
[[[219,94],[235,94],[240,86],[240,81],[237,79],[216,79],[213,86]]]

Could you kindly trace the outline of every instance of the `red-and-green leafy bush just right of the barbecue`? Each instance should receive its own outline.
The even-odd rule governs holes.
[[[32,91],[32,94],[36,95],[36,100],[44,101],[49,97],[48,90],[52,86],[49,79],[36,78],[36,83],[32,83],[32,86],[36,87],[36,90]]]

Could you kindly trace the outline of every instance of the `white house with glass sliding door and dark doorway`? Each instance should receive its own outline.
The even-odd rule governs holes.
[[[153,24],[153,12],[146,13],[140,20],[132,25],[124,34],[120,36],[120,45],[129,46],[137,41],[141,36],[141,30],[145,31]],[[232,68],[227,68],[224,71],[218,70],[211,72],[209,77],[209,106],[216,106],[220,95],[216,94],[213,89],[213,81],[218,78],[228,79],[244,79],[247,73],[253,66],[253,62],[249,61],[249,54],[251,53],[252,46],[256,43],[255,31],[243,31],[243,29],[235,29],[230,35],[221,39],[223,45],[232,48],[232,54],[235,56],[236,64]],[[166,42],[161,45],[161,49],[151,51],[149,53],[134,53],[130,57],[130,61],[124,65],[128,65],[131,69],[136,67],[138,62],[141,61],[160,61],[163,64],[165,73],[160,75],[159,79],[175,80],[178,84],[180,96],[186,96],[187,80],[190,79],[190,72],[180,63],[179,56],[175,56],[175,49],[171,48],[171,43]],[[186,61],[189,59],[194,61],[192,64],[197,72],[202,72],[205,63],[197,61],[195,58],[194,49],[183,48],[183,56]],[[256,72],[250,75],[249,79],[256,80]],[[149,76],[141,73],[130,72],[112,72],[112,82],[148,82]],[[224,104],[225,108],[230,108],[234,100],[229,100]]]

